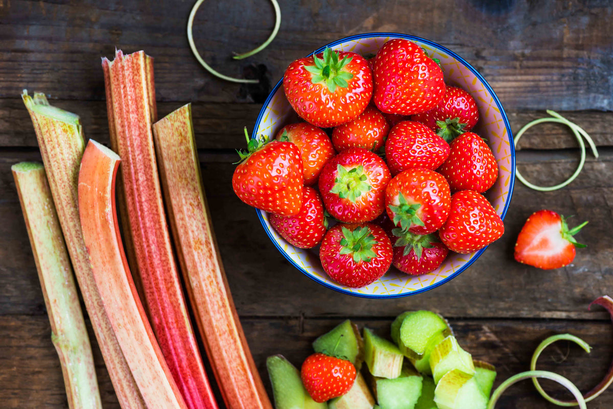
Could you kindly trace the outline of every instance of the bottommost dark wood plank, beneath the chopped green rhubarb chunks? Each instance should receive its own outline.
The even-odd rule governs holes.
[[[390,317],[382,320],[354,320],[360,328],[368,326],[382,336],[389,334],[394,314],[402,312],[390,306]],[[300,318],[241,319],[257,368],[270,393],[265,370],[267,356],[282,353],[296,366],[311,352],[311,342],[328,331],[339,320]],[[498,378],[495,385],[528,369],[531,354],[538,343],[552,334],[569,332],[588,342],[593,351],[585,354],[578,347],[560,342],[547,349],[539,360],[539,369],[553,370],[577,383],[582,390],[595,385],[606,372],[613,356],[611,324],[607,321],[522,321],[522,320],[451,320],[455,334],[465,350],[474,358],[495,364]],[[65,408],[66,395],[59,361],[53,345],[47,317],[24,315],[0,317],[0,401],[6,409]],[[92,339],[94,359],[100,382],[102,404],[106,409],[119,408],[104,362]],[[547,385],[547,390],[559,391]],[[221,403],[221,400],[219,400]],[[590,403],[591,409],[613,405],[613,392],[607,391]],[[221,406],[223,407],[223,405]],[[538,396],[530,382],[509,391],[500,400],[500,409],[555,408]]]

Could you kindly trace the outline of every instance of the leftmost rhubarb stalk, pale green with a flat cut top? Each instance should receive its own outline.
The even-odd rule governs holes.
[[[100,409],[94,357],[45,168],[41,163],[21,162],[11,170],[51,323],[51,340],[64,375],[68,406]]]

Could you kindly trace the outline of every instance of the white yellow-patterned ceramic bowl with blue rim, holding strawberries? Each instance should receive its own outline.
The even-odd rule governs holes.
[[[392,32],[376,32],[346,37],[332,42],[314,51],[314,53],[320,53],[325,47],[330,47],[334,50],[352,51],[359,54],[376,54],[377,50],[387,40],[394,38],[407,39],[424,47],[432,58],[441,60],[445,82],[460,86],[474,97],[479,107],[480,116],[479,123],[474,130],[482,137],[487,138],[498,162],[498,180],[492,189],[485,193],[485,197],[492,203],[500,217],[504,219],[511,201],[515,179],[515,148],[511,126],[509,126],[509,119],[492,88],[468,62],[453,51],[447,50],[447,48],[432,41]],[[283,79],[281,79],[264,103],[264,107],[257,117],[253,135],[266,135],[272,139],[281,127],[291,122],[297,122],[297,116],[287,102],[283,91]],[[370,285],[362,288],[348,288],[334,282],[324,272],[319,262],[319,247],[310,250],[296,248],[287,243],[270,226],[267,212],[257,210],[257,216],[273,244],[295,268],[325,287],[359,297],[397,298],[422,293],[443,285],[458,276],[485,251],[485,249],[481,249],[471,254],[449,252],[449,256],[440,268],[417,277],[408,276],[392,266],[390,271]]]

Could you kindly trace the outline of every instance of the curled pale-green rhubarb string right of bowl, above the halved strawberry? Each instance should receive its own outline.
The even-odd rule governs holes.
[[[530,187],[530,189],[538,190],[539,192],[552,192],[552,190],[562,189],[563,187],[568,185],[570,182],[574,181],[574,179],[577,178],[577,176],[579,176],[579,173],[581,173],[581,170],[583,169],[583,166],[585,164],[585,143],[583,141],[584,138],[587,141],[587,143],[590,145],[590,148],[592,149],[592,153],[594,154],[594,157],[598,158],[598,151],[596,150],[596,145],[594,144],[594,141],[592,140],[590,135],[588,135],[587,132],[585,132],[585,130],[583,130],[580,126],[578,126],[574,122],[571,122],[568,119],[564,118],[562,115],[558,114],[555,111],[547,110],[547,113],[550,114],[553,118],[535,119],[534,121],[531,121],[525,124],[525,126],[522,129],[520,129],[519,132],[517,132],[517,135],[515,135],[515,138],[513,138],[515,146],[517,147],[517,142],[519,142],[519,138],[521,138],[522,135],[524,135],[524,132],[530,129],[530,127],[533,127],[538,124],[542,124],[543,122],[557,122],[559,124],[564,124],[568,126],[573,131],[575,138],[577,138],[577,142],[579,142],[579,148],[581,148],[581,160],[579,160],[579,166],[577,166],[577,169],[574,171],[571,177],[555,186],[536,186],[535,184],[528,182],[524,178],[524,176],[522,176],[519,173],[519,170],[517,170],[517,167],[516,167],[515,176],[517,176],[517,179],[519,179],[520,182],[525,184],[525,186]]]

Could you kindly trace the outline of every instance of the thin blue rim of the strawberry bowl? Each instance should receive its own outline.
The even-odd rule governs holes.
[[[511,124],[509,124],[509,118],[507,118],[506,112],[504,111],[502,103],[500,102],[500,99],[498,99],[498,96],[493,91],[490,84],[487,83],[487,81],[481,75],[481,73],[479,73],[476,69],[474,69],[473,66],[468,64],[468,61],[460,57],[458,54],[454,53],[454,51],[451,51],[448,48],[443,47],[442,45],[439,45],[435,42],[432,42],[426,39],[422,39],[421,37],[410,36],[409,34],[400,34],[397,32],[367,32],[364,34],[356,34],[355,36],[345,37],[344,39],[340,39],[340,40],[331,42],[327,45],[324,45],[324,47],[318,48],[318,50],[313,51],[313,53],[308,54],[308,56],[311,56],[316,53],[321,53],[326,47],[333,47],[340,43],[348,42],[351,40],[358,40],[358,39],[364,39],[364,38],[370,38],[370,37],[392,37],[392,38],[400,38],[400,39],[418,41],[421,43],[431,45],[432,47],[438,48],[438,50],[444,51],[445,53],[449,53],[455,59],[462,62],[462,64],[468,67],[468,69],[470,69],[471,72],[473,72],[474,75],[477,78],[479,78],[479,80],[485,85],[485,88],[487,88],[487,91],[490,92],[490,95],[493,97],[494,101],[496,102],[496,105],[498,109],[500,110],[500,114],[503,117],[504,126],[506,127],[507,134],[509,135],[509,140],[510,141],[513,140],[513,137],[512,137],[513,133],[511,131]],[[260,113],[257,115],[256,124],[253,127],[253,133],[251,133],[252,138],[256,136],[256,132],[260,126],[260,122],[262,121],[262,116],[264,115],[265,108],[268,106],[268,103],[270,102],[272,97],[275,95],[276,91],[280,88],[281,84],[283,84],[283,78],[281,78],[281,80],[278,83],[276,83],[275,88],[273,88],[272,91],[270,91],[270,94],[268,94],[268,98],[264,102],[264,105],[262,105],[262,109],[260,110]],[[504,220],[504,216],[506,216],[506,212],[509,209],[509,203],[511,203],[511,197],[512,197],[513,188],[515,185],[515,146],[512,143],[509,143],[509,146],[511,146],[511,184],[509,186],[509,193],[508,193],[506,203],[504,204],[504,209],[500,216],[502,220]],[[264,217],[262,216],[262,211],[260,209],[256,209],[256,212],[257,212],[257,217],[260,219],[260,222],[262,223],[262,227],[264,227],[264,230],[266,231],[268,238],[270,238],[270,241],[272,241],[275,244],[275,247],[281,252],[281,254],[283,254],[283,256],[287,259],[287,261],[289,261],[295,268],[297,268],[300,272],[302,272],[302,274],[304,274],[305,276],[307,276],[314,282],[317,282],[323,285],[324,287],[330,288],[330,290],[334,290],[334,291],[337,291],[338,293],[343,293],[346,295],[351,295],[351,296],[360,297],[360,298],[375,298],[375,299],[388,299],[389,298],[391,299],[391,298],[403,298],[403,297],[425,293],[425,291],[429,291],[429,290],[432,290],[433,288],[439,287],[440,285],[443,285],[444,283],[449,282],[455,277],[459,276],[463,271],[469,268],[479,257],[481,257],[483,252],[487,249],[487,247],[489,247],[489,246],[485,246],[478,252],[474,253],[473,257],[471,257],[470,260],[466,261],[465,265],[463,265],[460,269],[458,269],[458,271],[454,271],[453,274],[451,274],[451,276],[447,276],[443,280],[440,280],[439,282],[429,285],[428,287],[420,288],[419,290],[411,291],[410,293],[389,294],[389,295],[362,294],[362,293],[357,293],[357,292],[353,292],[349,290],[344,290],[343,288],[335,287],[325,281],[319,280],[318,278],[314,277],[311,274],[308,274],[308,272],[306,272],[302,267],[297,265],[297,263],[294,260],[292,260],[292,258],[289,257],[289,255],[287,255],[286,252],[284,252],[280,244],[276,242],[275,238],[273,238],[270,231],[265,227],[265,222],[264,222]]]

